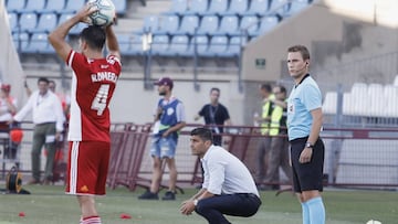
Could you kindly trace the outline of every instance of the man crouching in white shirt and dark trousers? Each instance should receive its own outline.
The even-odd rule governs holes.
[[[205,180],[202,189],[182,202],[181,213],[193,211],[209,224],[230,224],[226,215],[249,217],[254,215],[261,200],[248,168],[222,147],[212,143],[212,132],[207,128],[191,131],[192,154],[199,156]]]

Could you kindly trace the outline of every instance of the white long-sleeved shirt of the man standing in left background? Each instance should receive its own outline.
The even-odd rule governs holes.
[[[55,122],[56,131],[63,130],[65,117],[62,111],[61,100],[51,90],[48,90],[44,95],[40,95],[39,90],[32,93],[28,103],[14,116],[14,120],[23,120],[30,111],[32,111],[33,124]]]

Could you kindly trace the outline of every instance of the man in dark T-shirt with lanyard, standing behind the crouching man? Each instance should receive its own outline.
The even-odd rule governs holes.
[[[222,146],[222,136],[223,126],[231,125],[231,119],[226,106],[220,102],[220,89],[211,88],[210,89],[210,104],[205,105],[198,115],[195,116],[195,120],[198,120],[200,117],[205,118],[205,124],[213,132],[213,145]]]

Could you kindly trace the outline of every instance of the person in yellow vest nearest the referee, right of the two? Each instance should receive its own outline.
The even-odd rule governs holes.
[[[275,98],[271,102],[274,107],[271,114],[270,130],[271,148],[268,157],[268,169],[265,184],[270,184],[263,190],[277,190],[280,188],[280,167],[289,179],[292,181],[292,168],[289,162],[289,141],[286,129],[287,103],[286,88],[277,85],[273,88]]]

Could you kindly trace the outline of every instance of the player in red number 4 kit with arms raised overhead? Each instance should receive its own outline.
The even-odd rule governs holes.
[[[105,194],[109,161],[109,100],[119,77],[121,53],[112,25],[88,25],[74,51],[65,41],[72,26],[87,21],[96,9],[85,6],[49,34],[56,53],[72,67],[71,117],[69,126],[67,194],[77,195],[82,224],[101,224],[95,195]],[[109,55],[103,56],[107,45]]]

